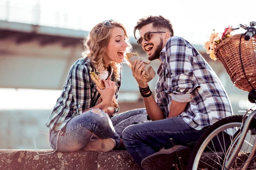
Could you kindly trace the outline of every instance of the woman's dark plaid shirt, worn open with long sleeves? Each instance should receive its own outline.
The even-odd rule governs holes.
[[[71,66],[61,96],[58,98],[45,126],[55,131],[62,131],[70,119],[95,105],[99,92],[96,90],[96,84],[90,78],[90,71],[96,72],[96,69],[93,68],[90,59],[87,57],[78,59]],[[96,72],[96,74],[98,73]],[[121,78],[122,71],[119,79],[116,79],[114,74],[111,77],[111,80],[116,82],[117,86],[116,102],[118,101]],[[115,109],[114,113],[118,111],[119,108]]]

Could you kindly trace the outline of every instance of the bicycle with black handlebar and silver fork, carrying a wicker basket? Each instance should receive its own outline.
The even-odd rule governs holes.
[[[251,37],[255,36],[255,26],[256,22],[250,22],[250,27],[240,24],[241,28],[247,30],[243,35],[241,34],[241,38],[244,36],[244,40],[250,40]],[[239,44],[240,58],[241,38]],[[253,38],[256,39],[256,37]],[[256,58],[256,45],[255,42],[253,43],[253,51],[255,54],[254,58]],[[254,62],[254,64],[255,68],[256,62]],[[241,68],[245,78],[247,79],[243,67],[244,66],[242,65]],[[250,102],[256,103],[256,85],[254,87],[247,79],[247,84],[248,83],[252,88],[248,94],[248,99]],[[207,162],[204,161],[206,159]],[[192,155],[187,169],[256,170],[256,110],[253,111],[249,109],[244,115],[225,117],[208,127],[192,150]]]

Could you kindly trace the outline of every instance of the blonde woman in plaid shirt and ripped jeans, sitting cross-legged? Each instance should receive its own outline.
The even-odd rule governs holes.
[[[50,129],[54,150],[108,152],[120,147],[125,127],[146,121],[147,114],[138,110],[114,115],[119,107],[110,107],[113,97],[118,101],[124,53],[131,47],[125,27],[115,20],[99,23],[84,40],[84,46],[83,58],[70,68],[45,125]],[[103,79],[104,90],[90,78],[93,71]]]

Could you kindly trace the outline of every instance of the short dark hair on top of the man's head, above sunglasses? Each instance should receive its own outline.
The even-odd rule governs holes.
[[[148,17],[143,17],[138,20],[137,25],[134,26],[134,37],[136,40],[137,38],[135,36],[135,32],[150,23],[153,23],[153,27],[159,29],[158,31],[161,31],[161,28],[167,29],[170,32],[171,37],[173,36],[172,23],[170,22],[170,20],[162,17],[161,15],[149,15]]]

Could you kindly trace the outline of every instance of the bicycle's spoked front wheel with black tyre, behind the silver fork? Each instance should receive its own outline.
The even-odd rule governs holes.
[[[240,127],[243,122],[242,115],[229,116],[210,126],[200,137],[188,164],[188,170],[224,170],[224,165],[233,153],[240,137]],[[255,144],[256,120],[250,124],[250,129],[236,157],[231,170],[241,170],[247,157]],[[256,169],[256,160],[253,157],[249,169]]]

